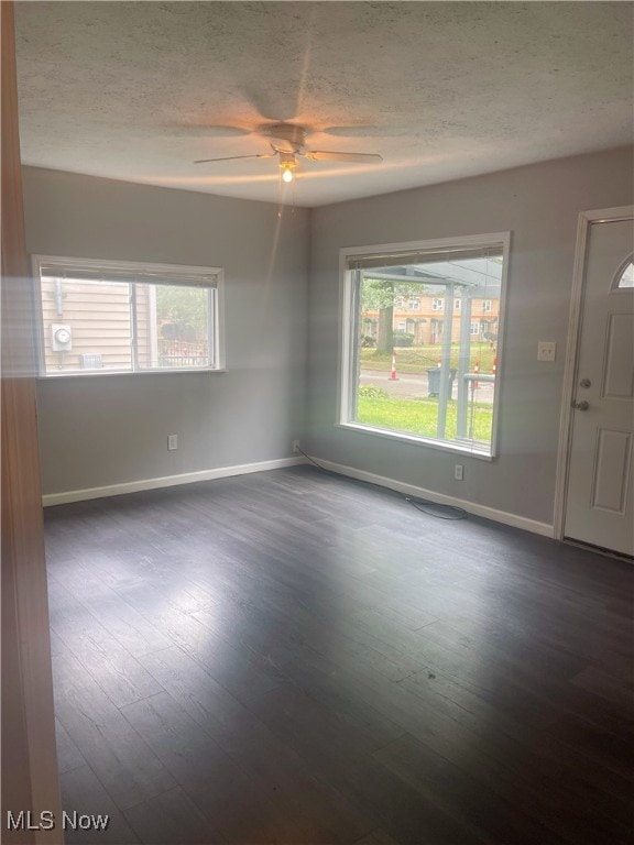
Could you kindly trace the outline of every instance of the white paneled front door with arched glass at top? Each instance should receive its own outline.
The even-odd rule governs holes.
[[[589,223],[564,534],[634,556],[634,223]]]

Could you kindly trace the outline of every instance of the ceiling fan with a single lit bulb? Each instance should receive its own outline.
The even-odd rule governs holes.
[[[260,132],[269,140],[272,153],[229,155],[221,158],[199,158],[194,164],[229,162],[237,158],[274,158],[280,156],[282,178],[284,182],[293,182],[293,171],[297,166],[297,156],[303,156],[313,162],[352,162],[363,164],[365,162],[383,161],[383,156],[378,153],[338,153],[327,150],[306,150],[307,130],[295,123],[272,123],[265,125]]]

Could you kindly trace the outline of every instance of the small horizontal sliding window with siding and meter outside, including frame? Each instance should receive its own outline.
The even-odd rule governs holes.
[[[35,256],[41,375],[221,369],[221,271]]]

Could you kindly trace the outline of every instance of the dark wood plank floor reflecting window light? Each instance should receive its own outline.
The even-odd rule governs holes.
[[[628,564],[307,467],[46,538],[67,842],[632,841]]]

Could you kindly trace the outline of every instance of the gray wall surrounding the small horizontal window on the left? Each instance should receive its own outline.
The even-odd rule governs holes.
[[[306,209],[24,168],[31,253],[220,266],[227,373],[41,380],[44,493],[267,461],[302,436]],[[177,434],[178,451],[166,438]]]

